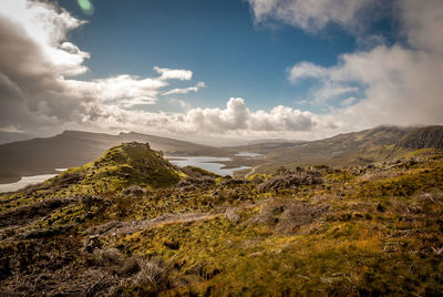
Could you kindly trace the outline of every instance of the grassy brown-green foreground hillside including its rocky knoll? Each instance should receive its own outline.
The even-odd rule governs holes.
[[[246,180],[146,144],[0,196],[7,296],[435,296],[443,151]]]

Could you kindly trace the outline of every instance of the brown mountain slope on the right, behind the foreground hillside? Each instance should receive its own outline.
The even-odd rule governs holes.
[[[379,126],[361,132],[300,143],[260,143],[229,147],[266,155],[266,164],[256,172],[326,164],[332,166],[365,165],[392,160],[419,148],[443,148],[443,126],[396,127]]]

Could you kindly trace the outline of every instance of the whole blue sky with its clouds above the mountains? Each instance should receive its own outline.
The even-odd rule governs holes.
[[[0,132],[229,144],[443,124],[441,0],[2,0]]]

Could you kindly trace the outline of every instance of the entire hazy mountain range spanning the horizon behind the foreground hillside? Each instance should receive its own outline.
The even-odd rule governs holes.
[[[247,165],[254,167],[254,173],[266,173],[282,165],[287,168],[311,164],[362,166],[393,160],[419,148],[443,148],[443,126],[379,126],[310,142],[277,140],[222,147],[133,132],[111,135],[65,131],[53,137],[0,145],[0,183],[18,181],[21,176],[53,173],[55,168],[80,166],[97,158],[113,145],[133,141],[147,142],[153,150],[166,155],[228,156],[231,161],[223,162],[227,166]],[[235,156],[238,152],[258,153],[261,156]]]

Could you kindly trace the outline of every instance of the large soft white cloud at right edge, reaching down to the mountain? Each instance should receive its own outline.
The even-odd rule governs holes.
[[[342,54],[339,63],[324,68],[299,62],[288,72],[298,83],[316,80],[311,101],[356,92],[360,100],[343,99],[343,109],[333,110],[342,130],[379,124],[442,124],[443,2],[399,0],[400,22],[408,44],[378,45],[368,51]]]

